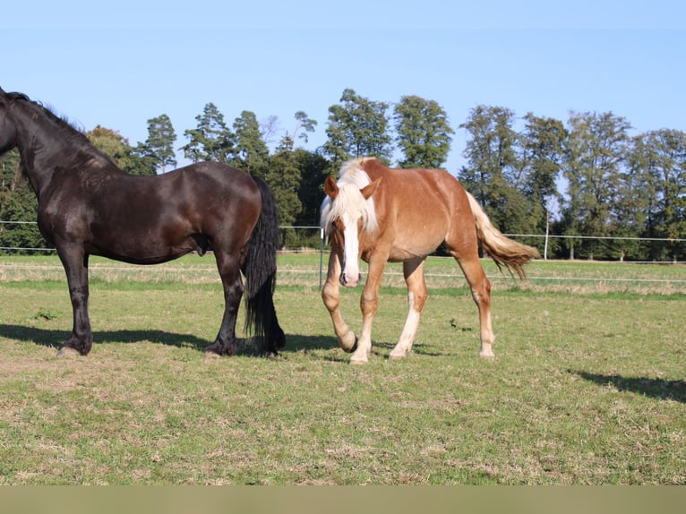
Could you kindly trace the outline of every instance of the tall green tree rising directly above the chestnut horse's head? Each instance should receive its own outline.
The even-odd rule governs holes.
[[[388,108],[388,104],[365,99],[350,89],[343,91],[339,104],[329,107],[328,140],[323,151],[336,171],[349,158],[373,156],[390,162],[393,148]]]

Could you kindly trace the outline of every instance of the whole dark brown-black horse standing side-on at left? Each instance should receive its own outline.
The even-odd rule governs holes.
[[[204,351],[236,353],[241,271],[246,326],[263,339],[263,353],[285,346],[272,297],[278,213],[261,178],[210,162],[162,176],[129,175],[45,107],[0,89],[0,156],[14,147],[38,197],[40,232],[55,244],[69,285],[73,331],[60,354],[71,348],[85,356],[92,346],[89,255],[157,264],[209,249],[226,306],[217,339]]]

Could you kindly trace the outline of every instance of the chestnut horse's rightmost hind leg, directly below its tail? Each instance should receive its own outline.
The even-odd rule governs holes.
[[[481,336],[481,348],[479,355],[493,358],[493,327],[491,326],[491,283],[486,278],[484,268],[478,257],[476,241],[467,247],[466,252],[460,252],[459,248],[450,248],[450,254],[458,261],[459,267],[467,278],[467,283],[472,291],[472,298],[479,309],[479,327]]]

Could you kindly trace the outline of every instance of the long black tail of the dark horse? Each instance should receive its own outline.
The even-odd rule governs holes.
[[[274,309],[274,287],[279,247],[279,212],[274,193],[262,178],[253,176],[262,193],[262,212],[248,242],[243,271],[245,275],[245,329],[264,339],[262,351],[276,354],[286,346],[286,336]]]

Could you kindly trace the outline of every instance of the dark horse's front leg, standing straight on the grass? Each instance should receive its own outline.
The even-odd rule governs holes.
[[[88,254],[80,245],[57,245],[57,254],[64,266],[69,298],[72,301],[72,337],[60,348],[57,355],[64,356],[76,351],[87,356],[93,346],[93,333],[90,330],[88,315]]]

